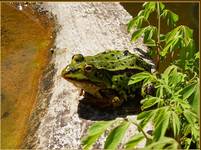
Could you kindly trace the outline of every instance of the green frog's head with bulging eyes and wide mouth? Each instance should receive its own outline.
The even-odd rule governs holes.
[[[81,54],[74,55],[71,63],[62,71],[64,79],[93,95],[99,89],[108,86],[106,74],[104,70],[95,67],[90,56],[84,57]]]

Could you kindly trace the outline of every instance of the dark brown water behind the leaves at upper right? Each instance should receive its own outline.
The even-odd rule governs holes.
[[[143,2],[123,2],[121,5],[135,17],[138,12],[142,9]],[[177,25],[186,25],[193,29],[194,39],[197,47],[199,46],[199,3],[198,2],[169,2],[164,3],[166,8],[175,12],[179,15],[179,21]],[[157,20],[155,14],[150,16],[150,22],[156,25]],[[167,27],[166,22],[161,20],[161,32],[163,34],[170,31]],[[174,58],[173,58],[174,59]],[[159,70],[164,70],[172,62],[170,56],[167,57],[162,63],[160,63]]]

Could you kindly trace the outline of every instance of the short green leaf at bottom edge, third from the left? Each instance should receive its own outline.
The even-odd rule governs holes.
[[[130,138],[130,140],[125,144],[126,149],[135,148],[137,144],[144,139],[142,133],[136,134]]]

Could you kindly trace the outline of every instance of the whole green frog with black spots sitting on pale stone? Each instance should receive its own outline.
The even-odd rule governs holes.
[[[107,50],[94,56],[73,55],[61,76],[83,90],[90,104],[116,108],[135,99],[142,83],[128,82],[142,71],[150,72],[151,65],[141,57],[128,50]]]

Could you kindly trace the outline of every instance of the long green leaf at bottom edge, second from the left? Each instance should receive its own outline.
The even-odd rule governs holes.
[[[123,139],[129,125],[129,122],[124,121],[122,124],[114,128],[105,141],[104,149],[116,149]]]

